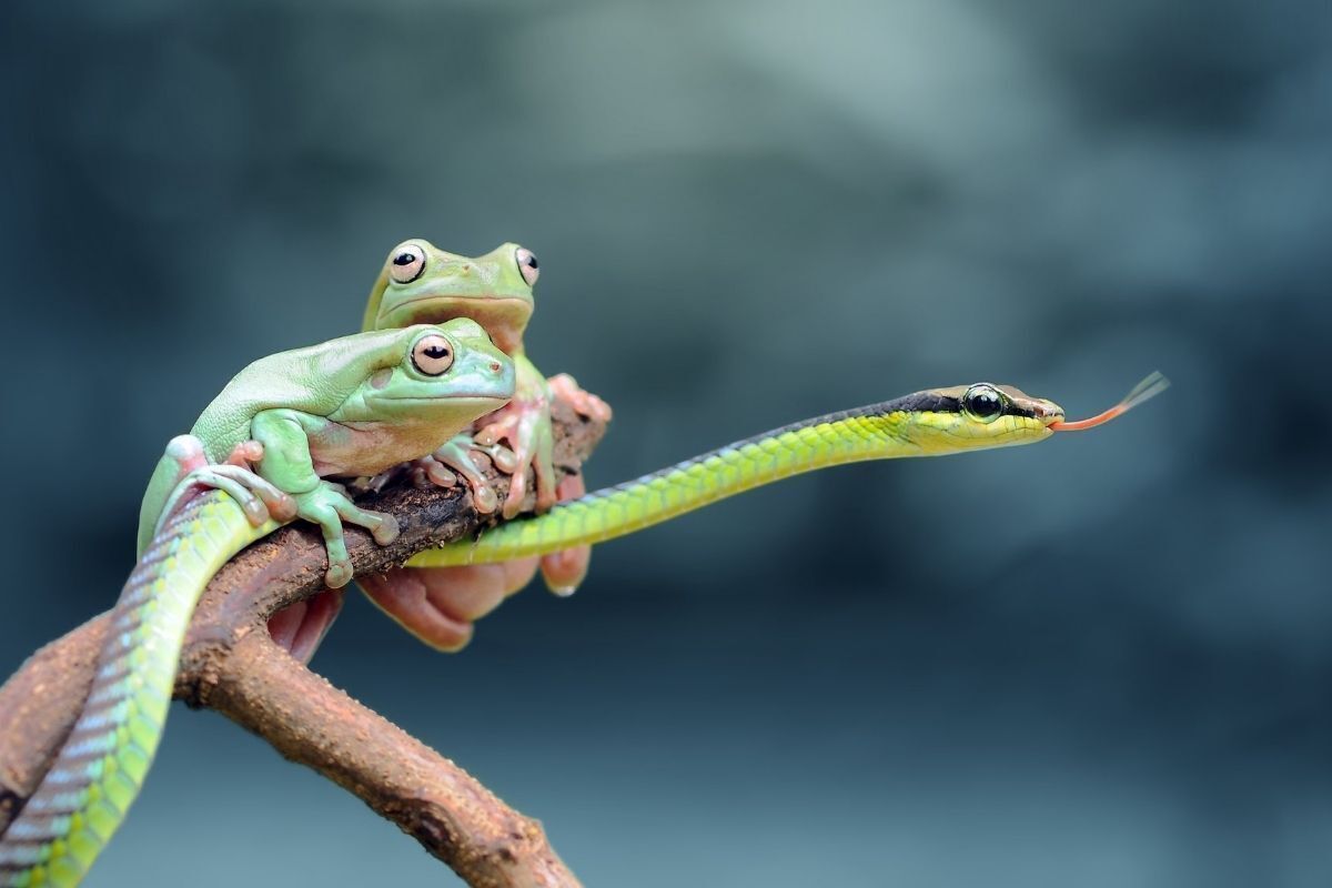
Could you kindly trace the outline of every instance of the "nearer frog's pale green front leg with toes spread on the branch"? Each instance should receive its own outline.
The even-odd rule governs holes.
[[[392,515],[360,509],[341,485],[320,478],[310,455],[310,438],[329,421],[298,410],[264,410],[250,422],[250,434],[264,446],[256,466],[258,474],[296,501],[296,517],[313,522],[324,531],[329,568],[324,580],[341,588],[352,580],[352,559],[342,537],[342,523],[365,527],[381,546],[398,535]]]

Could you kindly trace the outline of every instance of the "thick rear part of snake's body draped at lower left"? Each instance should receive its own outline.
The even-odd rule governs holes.
[[[161,740],[185,628],[213,574],[278,527],[230,497],[185,503],[153,538],[115,608],[84,708],[41,784],[0,836],[0,887],[77,885],[125,819]]]

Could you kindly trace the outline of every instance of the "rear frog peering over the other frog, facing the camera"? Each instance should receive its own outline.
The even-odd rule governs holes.
[[[511,518],[522,507],[529,473],[535,477],[537,511],[546,511],[557,499],[583,494],[581,475],[553,483],[550,398],[567,401],[583,415],[610,419],[601,398],[587,394],[569,375],[549,383],[527,359],[523,333],[531,318],[533,286],[539,276],[537,257],[517,244],[503,244],[490,253],[466,257],[436,248],[422,238],[398,244],[389,252],[370,290],[362,328],[385,329],[404,324],[438,324],[468,317],[481,324],[496,345],[513,357],[517,374],[514,399],[496,414],[480,421],[474,433],[444,442],[430,457],[416,462],[418,478],[440,485],[468,485],[481,513],[500,509],[494,491],[481,474],[474,457],[486,454],[503,471],[513,474],[502,514]],[[507,445],[503,446],[503,445]],[[547,553],[541,562],[546,584],[559,594],[571,592],[587,571],[590,549],[575,546]],[[456,651],[472,638],[473,620],[503,598],[525,586],[537,567],[534,558],[506,563],[390,571],[362,576],[358,582],[370,599],[408,631],[444,651]],[[321,604],[314,599],[310,607]],[[336,612],[336,604],[330,606]],[[321,615],[310,615],[321,616]],[[286,626],[273,626],[274,636],[318,635],[326,626],[300,623],[293,615]]]

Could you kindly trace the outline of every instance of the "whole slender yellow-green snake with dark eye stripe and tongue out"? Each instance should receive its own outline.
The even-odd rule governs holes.
[[[1100,425],[1166,387],[1152,374],[1103,414],[1063,410],[1010,386],[935,389],[834,413],[721,447],[637,481],[502,523],[410,564],[500,562],[621,537],[761,485],[867,459],[938,457]],[[73,731],[0,839],[0,887],[76,885],[139,793],[170,703],[181,640],[213,574],[281,523],[254,526],[225,493],[181,506],[157,531],[111,615],[97,674]]]

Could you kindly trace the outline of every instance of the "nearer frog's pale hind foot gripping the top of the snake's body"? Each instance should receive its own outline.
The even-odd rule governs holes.
[[[264,458],[264,445],[242,441],[230,455],[210,465],[202,442],[194,435],[176,435],[166,443],[166,458],[177,466],[177,481],[157,518],[157,530],[174,515],[181,505],[200,487],[221,490],[236,501],[254,527],[269,521],[290,521],[296,517],[296,501],[261,478],[252,463]]]

